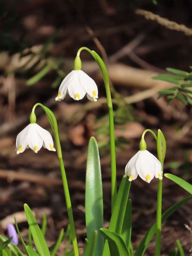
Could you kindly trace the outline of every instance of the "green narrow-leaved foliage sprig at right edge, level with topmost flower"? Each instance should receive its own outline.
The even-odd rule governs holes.
[[[190,68],[192,69],[191,66]],[[153,77],[153,79],[175,83],[176,86],[158,92],[159,98],[166,95],[168,105],[171,104],[175,98],[178,98],[185,105],[192,105],[192,90],[190,89],[190,87],[192,87],[192,72],[188,73],[175,68],[166,68],[166,70],[174,75],[160,74]]]

